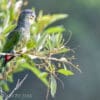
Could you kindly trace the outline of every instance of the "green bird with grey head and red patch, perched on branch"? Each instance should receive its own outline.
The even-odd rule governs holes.
[[[21,50],[30,39],[30,26],[35,20],[35,11],[30,9],[23,10],[18,18],[17,26],[6,38],[2,52],[13,53],[14,50]],[[0,56],[0,70],[4,68],[13,55]]]

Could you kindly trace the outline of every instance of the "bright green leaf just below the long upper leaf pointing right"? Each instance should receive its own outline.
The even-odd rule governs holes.
[[[45,30],[44,33],[48,34],[53,34],[53,33],[62,33],[65,31],[65,28],[62,26],[55,26],[55,27],[50,27],[47,30]]]

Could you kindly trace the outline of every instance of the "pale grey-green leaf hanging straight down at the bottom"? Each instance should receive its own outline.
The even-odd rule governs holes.
[[[57,90],[57,82],[53,75],[51,75],[51,81],[50,81],[50,89],[51,89],[51,96],[54,97]]]

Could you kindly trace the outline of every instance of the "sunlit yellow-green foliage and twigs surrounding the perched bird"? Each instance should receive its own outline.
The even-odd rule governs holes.
[[[18,5],[20,4],[20,6]],[[6,35],[16,26],[23,2],[16,0],[0,1],[0,51],[5,43]],[[43,15],[40,11],[36,22],[31,27],[31,38],[26,44],[28,50],[23,54],[15,54],[16,57],[7,64],[6,80],[13,82],[13,74],[25,69],[32,71],[50,90],[52,97],[57,89],[58,74],[65,76],[74,73],[67,66],[78,67],[72,64],[73,58],[66,58],[70,48],[65,46],[62,25],[51,26],[55,21],[67,18],[67,14]],[[16,51],[19,52],[20,50]],[[69,59],[70,58],[70,59]],[[8,91],[9,87],[4,78],[0,78],[0,85]]]

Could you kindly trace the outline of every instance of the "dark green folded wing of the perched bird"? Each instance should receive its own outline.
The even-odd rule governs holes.
[[[11,52],[14,46],[18,43],[20,38],[20,32],[18,30],[12,31],[8,36],[3,47],[3,52]]]

